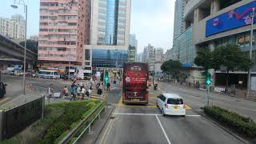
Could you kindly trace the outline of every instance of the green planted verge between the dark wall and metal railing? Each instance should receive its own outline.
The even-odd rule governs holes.
[[[57,143],[57,139],[68,130],[74,128],[75,123],[93,109],[98,102],[76,101],[48,104],[45,107],[44,118],[34,122],[13,138],[1,142],[3,144],[34,144]],[[64,136],[65,137],[65,136]]]

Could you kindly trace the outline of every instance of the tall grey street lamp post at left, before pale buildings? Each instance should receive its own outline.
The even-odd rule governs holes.
[[[14,4],[13,5],[10,5],[12,8],[14,9],[17,9],[18,6],[15,5],[15,4],[18,4],[18,5],[23,5],[24,6],[24,12],[26,14],[26,18],[25,18],[25,46],[24,46],[24,60],[23,60],[23,95],[26,94],[26,27],[27,27],[27,4],[24,2],[24,1],[19,1],[19,2],[16,2],[14,1]]]

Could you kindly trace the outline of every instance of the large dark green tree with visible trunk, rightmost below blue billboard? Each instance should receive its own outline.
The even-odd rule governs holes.
[[[218,70],[220,66],[226,67],[226,88],[229,85],[230,70],[249,70],[252,66],[250,58],[242,52],[237,45],[219,46],[213,51],[212,66]]]

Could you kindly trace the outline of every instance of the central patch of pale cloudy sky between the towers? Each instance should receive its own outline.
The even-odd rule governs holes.
[[[174,1],[146,0],[146,5],[143,5],[145,0],[133,2],[131,33],[137,36],[138,52],[142,52],[148,43],[164,50],[170,49],[173,42]]]

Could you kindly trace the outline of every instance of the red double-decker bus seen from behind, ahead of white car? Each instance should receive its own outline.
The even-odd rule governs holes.
[[[147,63],[127,62],[123,69],[122,102],[148,104],[147,82],[149,68]]]

